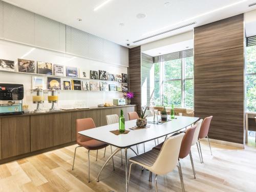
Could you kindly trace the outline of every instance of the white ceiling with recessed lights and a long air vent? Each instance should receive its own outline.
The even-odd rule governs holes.
[[[130,47],[189,31],[196,26],[256,8],[256,6],[248,7],[256,0],[112,0],[94,11],[94,8],[105,1],[5,0],[5,2],[117,44],[126,46],[129,42]],[[170,5],[165,6],[164,3],[166,2]],[[238,4],[229,6],[234,3]],[[222,9],[223,7],[226,8]],[[144,13],[146,17],[138,19],[136,17],[138,13]],[[77,18],[81,18],[82,21],[78,22]],[[196,24],[133,44],[133,41],[138,39],[191,22],[196,22]],[[120,26],[120,23],[124,25]],[[126,41],[127,39],[129,41]]]

